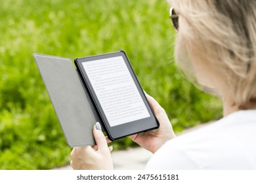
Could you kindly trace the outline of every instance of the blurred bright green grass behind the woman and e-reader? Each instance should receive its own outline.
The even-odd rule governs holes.
[[[0,169],[51,169],[70,161],[34,52],[74,59],[125,50],[175,131],[219,118],[219,99],[194,88],[175,67],[168,13],[158,0],[0,1]],[[131,145],[114,142],[116,149]]]

